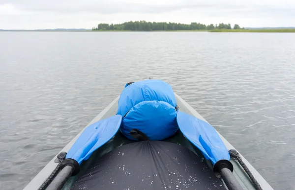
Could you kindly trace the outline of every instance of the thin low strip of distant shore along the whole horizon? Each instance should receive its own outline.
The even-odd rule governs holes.
[[[0,30],[0,32],[295,32],[295,29],[213,29],[213,30],[156,30],[156,31],[130,31],[130,30]]]

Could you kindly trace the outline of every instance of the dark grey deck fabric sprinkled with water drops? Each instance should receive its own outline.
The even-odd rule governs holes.
[[[71,190],[225,190],[189,149],[171,142],[125,144],[97,160]]]

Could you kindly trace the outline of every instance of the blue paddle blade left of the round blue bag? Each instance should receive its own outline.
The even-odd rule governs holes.
[[[89,159],[100,146],[116,135],[122,121],[121,115],[112,116],[89,125],[66,154],[66,158],[79,164]]]

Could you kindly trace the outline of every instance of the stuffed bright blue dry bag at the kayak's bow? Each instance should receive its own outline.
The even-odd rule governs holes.
[[[118,115],[123,117],[121,132],[131,140],[132,130],[144,133],[149,140],[160,141],[174,135],[176,98],[172,87],[162,80],[144,80],[125,86],[118,100]]]

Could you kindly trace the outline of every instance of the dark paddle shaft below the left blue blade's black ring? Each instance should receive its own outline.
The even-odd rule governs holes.
[[[61,190],[65,182],[71,177],[74,168],[72,166],[64,166],[57,176],[52,180],[46,190]]]

